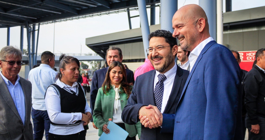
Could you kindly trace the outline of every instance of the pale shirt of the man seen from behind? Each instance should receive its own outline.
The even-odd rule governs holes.
[[[28,80],[32,84],[32,108],[45,111],[45,92],[55,82],[57,72],[47,64],[41,64],[29,71]]]

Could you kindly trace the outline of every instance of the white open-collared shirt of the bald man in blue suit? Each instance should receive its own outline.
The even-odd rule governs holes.
[[[214,39],[212,37],[209,37],[207,39],[205,39],[204,41],[202,41],[198,46],[196,46],[191,53],[189,54],[189,62],[190,62],[190,71],[192,70],[198,56],[200,55],[202,49],[205,47],[205,45],[207,43],[209,43],[210,41],[213,41]]]

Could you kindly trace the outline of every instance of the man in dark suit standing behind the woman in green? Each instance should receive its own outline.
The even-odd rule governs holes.
[[[111,65],[111,63],[113,61],[122,61],[122,51],[120,48],[118,47],[110,47],[107,50],[107,55],[106,55],[106,59],[107,59],[107,63],[108,65]],[[91,90],[90,90],[90,107],[92,110],[92,115],[93,115],[93,110],[95,107],[95,101],[96,101],[96,96],[98,94],[98,89],[101,88],[104,80],[105,80],[105,75],[108,71],[109,67],[100,69],[100,70],[96,70],[94,72],[93,78],[92,78],[92,84],[91,84]],[[134,74],[133,71],[129,70],[129,69],[125,69],[126,70],[126,77],[127,77],[127,82],[130,84],[134,84]],[[93,122],[93,120],[91,120],[91,122]],[[93,122],[93,127],[98,129]]]

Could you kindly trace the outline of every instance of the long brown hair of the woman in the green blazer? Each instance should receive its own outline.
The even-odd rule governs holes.
[[[105,95],[107,95],[107,92],[112,89],[112,86],[111,86],[111,79],[109,77],[109,73],[110,71],[116,67],[116,66],[119,66],[122,70],[122,81],[121,81],[121,89],[120,89],[120,93],[123,93],[125,92],[128,97],[127,99],[129,98],[130,94],[131,94],[131,91],[132,91],[132,87],[127,83],[127,80],[126,80],[126,71],[125,71],[125,68],[123,66],[123,64],[121,62],[118,62],[118,61],[114,61],[111,63],[111,65],[109,66],[109,69],[106,73],[106,77],[105,77],[105,80],[102,84],[102,90],[103,90],[103,93]],[[105,88],[106,87],[106,88]]]

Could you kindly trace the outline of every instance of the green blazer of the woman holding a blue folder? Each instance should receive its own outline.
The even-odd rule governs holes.
[[[121,109],[123,110],[123,108],[127,104],[128,96],[126,93],[119,93],[119,95],[120,95]],[[103,125],[107,124],[109,118],[112,118],[114,100],[115,100],[115,91],[113,89],[109,90],[107,95],[103,93],[102,88],[98,90],[95,102],[95,108],[93,111],[94,123],[99,128],[98,136],[101,136],[101,134],[103,133],[102,131]],[[125,128],[126,131],[129,133],[129,137],[136,136],[138,132],[138,137],[140,138],[140,133],[141,133],[140,122],[136,123],[135,125],[125,124]]]

